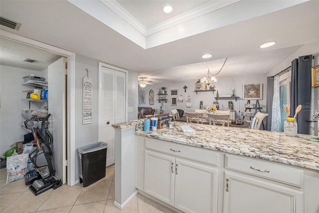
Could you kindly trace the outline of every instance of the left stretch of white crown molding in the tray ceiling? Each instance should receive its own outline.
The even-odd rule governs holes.
[[[135,29],[141,32],[144,36],[146,36],[146,27],[141,24],[134,16],[132,16],[126,9],[124,9],[118,2],[115,0],[100,0],[110,9],[112,9],[116,14],[118,14],[121,18],[131,24]]]

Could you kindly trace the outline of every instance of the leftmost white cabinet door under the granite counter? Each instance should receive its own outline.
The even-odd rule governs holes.
[[[145,191],[172,206],[174,205],[174,164],[173,157],[145,151]]]

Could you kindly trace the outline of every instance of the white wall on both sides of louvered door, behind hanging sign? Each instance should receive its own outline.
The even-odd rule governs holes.
[[[98,142],[99,136],[99,61],[85,56],[75,55],[75,147],[81,147],[87,144]],[[83,78],[87,75],[86,69],[89,70],[89,77],[92,78],[93,84],[93,104],[92,104],[92,123],[82,123],[82,95],[83,95]],[[128,106],[133,106],[134,112],[128,112],[128,120],[137,118],[137,97],[138,97],[138,74],[132,71],[128,72],[129,81],[127,87]],[[74,150],[77,158],[77,150]],[[79,179],[79,162],[75,163],[75,180]]]

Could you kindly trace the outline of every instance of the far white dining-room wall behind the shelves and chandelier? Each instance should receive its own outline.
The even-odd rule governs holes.
[[[204,76],[204,74],[203,74]],[[199,79],[200,77],[198,77]],[[222,107],[227,107],[228,106],[228,101],[233,102],[233,107],[236,110],[236,117],[239,117],[239,111],[245,111],[244,104],[247,103],[246,100],[242,100],[242,93],[243,93],[243,85],[244,84],[263,84],[263,100],[260,100],[260,106],[263,107],[262,112],[265,112],[266,110],[266,83],[267,83],[267,77],[265,74],[263,75],[253,75],[253,76],[236,76],[236,77],[218,77],[217,78],[217,83],[216,83],[216,90],[218,90],[219,95],[232,95],[232,88],[235,88],[235,95],[240,97],[237,99],[237,102],[235,99],[218,99],[219,106]],[[216,101],[214,97],[216,97],[216,92],[198,92],[196,95],[196,92],[194,92],[196,88],[196,82],[197,79],[194,79],[194,81],[188,81],[188,82],[174,82],[174,83],[163,83],[163,84],[158,84],[158,85],[147,85],[144,88],[145,94],[146,94],[146,104],[139,106],[144,106],[144,107],[152,107],[154,109],[157,109],[158,112],[160,111],[160,103],[157,101],[158,99],[158,94],[159,90],[161,87],[166,87],[167,90],[167,103],[164,103],[164,113],[169,112],[170,109],[175,109],[175,108],[180,108],[183,109],[184,111],[195,111],[195,108],[199,108],[200,101],[203,102],[203,105],[207,106],[212,106],[213,102]],[[183,87],[186,86],[186,93],[184,92]],[[149,105],[149,92],[150,90],[153,90],[155,93],[154,97],[154,105]],[[184,101],[183,103],[178,103],[177,101],[177,106],[170,106],[171,101],[170,101],[170,96],[169,92],[170,90],[178,90],[178,97],[180,95],[183,96]],[[141,87],[139,87],[139,92],[141,91]],[[191,107],[186,107],[186,98],[187,96],[190,96],[191,98]],[[255,103],[255,101],[251,101],[251,103]],[[171,114],[171,113],[170,113]],[[242,118],[242,117],[241,117]]]

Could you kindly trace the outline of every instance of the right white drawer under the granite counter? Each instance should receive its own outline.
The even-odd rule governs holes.
[[[225,168],[292,186],[303,186],[304,172],[299,169],[232,155],[226,155]]]

